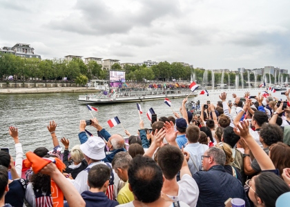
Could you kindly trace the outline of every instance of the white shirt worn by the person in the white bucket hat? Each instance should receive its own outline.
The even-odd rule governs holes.
[[[105,164],[105,163],[104,163],[104,161],[98,161],[98,162],[95,162],[93,164],[90,164],[88,166],[88,168],[93,168],[93,166],[95,166],[97,164]],[[122,181],[118,177],[118,175],[115,172],[115,170],[113,170],[113,174],[114,174],[114,193],[113,193],[113,197],[117,198],[118,189],[121,189],[124,186],[124,181]],[[69,179],[69,180],[75,186],[75,188],[77,189],[79,194],[83,193],[85,190],[90,190],[90,188],[88,187],[88,184],[87,184],[88,172],[86,172],[85,170],[79,172],[79,174],[77,175],[77,177],[75,179]]]

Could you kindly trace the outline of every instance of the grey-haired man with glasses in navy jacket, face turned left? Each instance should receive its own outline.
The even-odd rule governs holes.
[[[242,183],[233,175],[226,173],[224,164],[226,154],[220,148],[212,147],[202,155],[202,169],[193,175],[200,195],[196,206],[224,206],[224,201],[240,198],[250,206]]]

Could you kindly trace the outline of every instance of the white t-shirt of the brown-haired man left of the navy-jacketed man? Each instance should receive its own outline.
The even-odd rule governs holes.
[[[197,183],[193,177],[188,174],[182,176],[180,181],[177,182],[179,189],[177,196],[167,195],[173,201],[182,201],[191,207],[195,207],[200,194]]]

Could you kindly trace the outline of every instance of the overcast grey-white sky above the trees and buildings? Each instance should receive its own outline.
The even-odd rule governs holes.
[[[43,59],[290,69],[289,8],[287,0],[0,0],[0,47],[30,43]]]

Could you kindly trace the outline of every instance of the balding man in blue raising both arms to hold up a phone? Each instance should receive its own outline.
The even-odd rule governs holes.
[[[117,152],[124,152],[126,151],[124,149],[124,144],[125,144],[125,140],[121,135],[110,135],[110,133],[102,128],[99,125],[99,121],[95,118],[95,119],[90,119],[92,121],[91,126],[97,128],[97,130],[99,131],[100,135],[102,137],[104,137],[104,139],[106,139],[107,141],[107,146],[109,148],[109,151],[106,152],[106,157],[103,159],[104,162],[112,162],[114,156],[117,154]],[[79,141],[81,141],[81,144],[84,144],[86,142],[86,140],[88,139],[88,136],[86,135],[85,132],[85,128],[86,128],[86,121],[85,120],[81,120],[80,124],[79,124]]]

